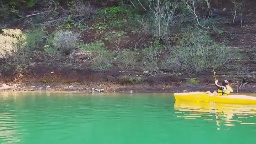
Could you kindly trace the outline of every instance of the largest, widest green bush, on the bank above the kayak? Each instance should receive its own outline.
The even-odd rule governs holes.
[[[208,35],[194,32],[170,51],[166,66],[175,72],[202,73],[233,67],[236,52],[225,44],[214,42]]]

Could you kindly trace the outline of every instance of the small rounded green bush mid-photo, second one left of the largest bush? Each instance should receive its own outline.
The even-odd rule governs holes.
[[[135,51],[125,49],[118,55],[119,67],[122,69],[132,70],[137,66],[137,53]]]

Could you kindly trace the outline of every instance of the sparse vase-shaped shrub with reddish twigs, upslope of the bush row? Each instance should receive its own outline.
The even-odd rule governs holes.
[[[114,45],[115,53],[118,53],[121,47],[127,44],[125,32],[123,31],[108,33],[105,39]]]

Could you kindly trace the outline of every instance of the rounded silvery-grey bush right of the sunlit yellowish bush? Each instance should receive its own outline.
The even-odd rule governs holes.
[[[53,45],[60,52],[69,55],[77,46],[80,34],[73,31],[58,31],[54,34]]]

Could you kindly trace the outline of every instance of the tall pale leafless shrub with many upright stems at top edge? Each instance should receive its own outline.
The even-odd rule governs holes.
[[[132,2],[132,0],[131,0]],[[140,0],[137,0],[142,5]],[[155,37],[168,43],[172,34],[172,27],[177,23],[176,14],[177,3],[169,0],[148,0],[149,8],[146,9],[150,15],[148,18],[139,20],[142,32],[145,34],[154,34]]]

